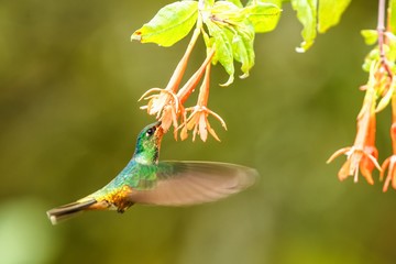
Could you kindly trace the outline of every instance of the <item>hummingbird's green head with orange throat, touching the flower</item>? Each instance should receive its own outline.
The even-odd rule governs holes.
[[[157,163],[163,135],[161,121],[145,127],[138,136],[135,161],[143,164]]]

